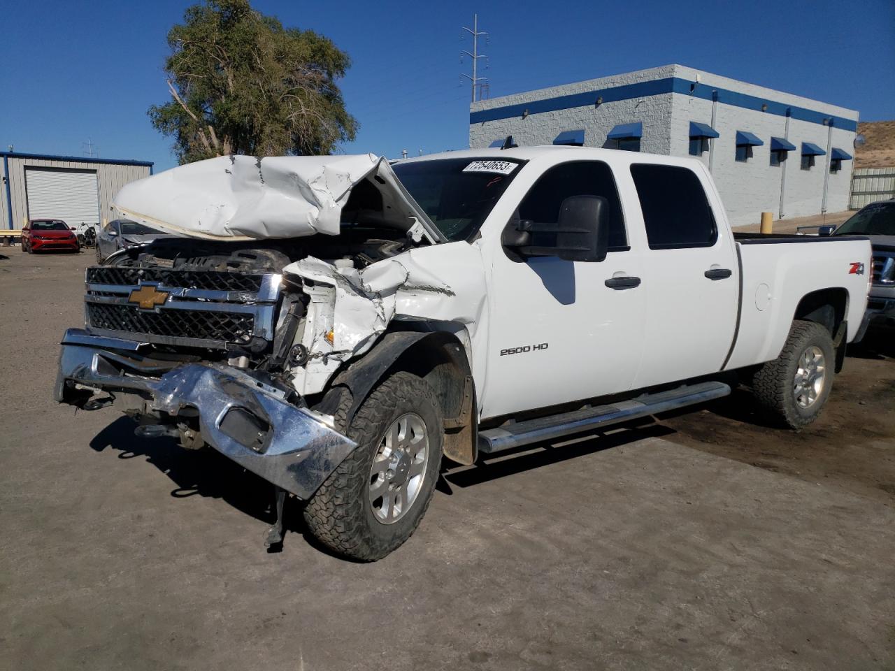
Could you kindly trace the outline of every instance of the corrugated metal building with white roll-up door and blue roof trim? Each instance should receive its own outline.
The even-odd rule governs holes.
[[[52,217],[72,228],[96,225],[111,214],[124,184],[152,174],[149,161],[118,161],[0,152],[3,191],[0,228],[21,228],[26,219]]]

